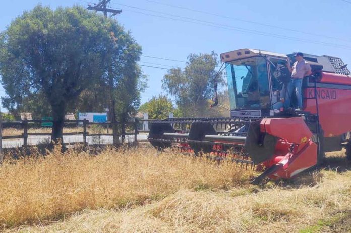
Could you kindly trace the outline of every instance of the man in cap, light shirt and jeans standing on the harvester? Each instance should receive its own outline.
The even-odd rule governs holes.
[[[309,76],[312,72],[311,66],[305,61],[303,53],[298,52],[293,57],[295,57],[296,62],[294,63],[294,65],[292,65],[292,68],[289,64],[287,65],[287,68],[291,73],[291,80],[287,85],[287,95],[284,101],[284,107],[290,107],[292,91],[295,89],[295,95],[298,101],[298,106],[296,110],[299,111],[302,110],[302,80],[304,79],[304,77]]]

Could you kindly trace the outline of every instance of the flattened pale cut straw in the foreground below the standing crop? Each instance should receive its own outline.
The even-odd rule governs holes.
[[[317,173],[315,185],[180,190],[149,205],[85,210],[13,232],[350,232],[351,172]]]

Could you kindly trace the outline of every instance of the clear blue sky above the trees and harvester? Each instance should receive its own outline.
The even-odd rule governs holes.
[[[0,30],[5,30],[15,17],[38,3],[56,8],[74,4],[87,6],[89,2],[98,0],[2,1]],[[189,53],[213,50],[219,54],[256,48],[286,54],[302,51],[337,56],[351,68],[351,0],[112,0],[110,7],[123,10],[117,19],[132,32],[145,56],[186,61]],[[164,68],[185,65],[148,57],[142,57],[141,61],[143,65]],[[149,77],[149,88],[142,95],[145,102],[162,92],[161,80],[167,70],[143,67],[143,71]],[[0,90],[0,96],[4,95],[4,90]]]

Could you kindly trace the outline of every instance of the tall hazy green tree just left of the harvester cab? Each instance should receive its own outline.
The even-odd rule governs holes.
[[[184,116],[206,116],[209,100],[214,95],[214,85],[223,83],[216,75],[217,54],[190,54],[185,70],[175,68],[163,77],[162,87],[175,97]]]

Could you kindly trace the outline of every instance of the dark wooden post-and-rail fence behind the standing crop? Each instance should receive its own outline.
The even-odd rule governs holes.
[[[113,133],[108,133],[109,128],[113,128],[113,125],[116,125],[115,128],[119,129],[118,136],[121,138],[121,142],[125,141],[126,136],[133,135],[134,136],[134,144],[137,144],[138,142],[138,134],[143,133],[143,132],[148,132],[148,130],[138,130],[138,127],[140,128],[140,123],[143,124],[143,122],[150,122],[152,120],[145,120],[145,119],[138,119],[138,118],[133,118],[133,121],[127,121],[127,122],[115,122],[115,123],[110,123],[110,122],[105,122],[105,123],[93,123],[89,122],[88,120],[66,120],[64,123],[65,124],[75,124],[76,126],[82,127],[82,131],[80,132],[68,132],[68,133],[63,133],[64,136],[71,136],[71,135],[82,135],[83,136],[83,142],[80,142],[81,144],[88,145],[88,140],[87,138],[91,136],[113,136]],[[17,129],[23,129],[23,133],[21,135],[11,135],[11,136],[2,136],[3,140],[6,139],[23,139],[23,146],[28,145],[28,137],[29,136],[51,136],[51,133],[29,133],[28,129],[30,126],[41,126],[41,123],[45,122],[52,122],[52,121],[46,121],[46,120],[23,120],[23,121],[16,121],[16,122],[3,122],[2,127],[7,127],[7,128],[17,128]],[[107,133],[89,133],[88,128],[93,126],[93,125],[98,125],[102,126],[102,128],[107,128]],[[36,128],[42,128],[42,127],[36,127]],[[47,127],[46,127],[47,128]],[[112,131],[112,130],[111,130]],[[76,143],[65,143],[63,142],[64,145],[68,144],[76,144]]]

